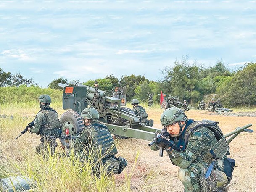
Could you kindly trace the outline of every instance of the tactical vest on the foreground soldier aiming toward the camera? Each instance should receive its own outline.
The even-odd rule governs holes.
[[[214,132],[214,135],[217,139],[216,144],[211,146],[211,148],[208,149],[208,151],[204,152],[201,155],[204,161],[208,161],[213,158],[222,159],[224,158],[225,155],[229,155],[229,146],[221,129],[218,126],[218,122],[216,121],[203,119],[202,121],[195,121],[192,124],[190,124],[190,126],[188,126],[184,134],[186,144],[189,141],[191,135],[195,133],[196,130],[200,127],[207,127],[208,129],[210,129],[212,132]]]

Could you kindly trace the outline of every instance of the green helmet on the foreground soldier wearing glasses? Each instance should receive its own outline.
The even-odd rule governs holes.
[[[187,120],[187,116],[184,113],[184,111],[177,107],[171,107],[164,110],[160,118],[162,126],[168,126],[168,125],[174,124],[177,121],[186,121],[186,120]]]

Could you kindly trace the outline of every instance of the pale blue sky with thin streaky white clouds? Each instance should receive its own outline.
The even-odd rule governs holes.
[[[256,62],[256,0],[0,0],[0,68],[41,87]]]

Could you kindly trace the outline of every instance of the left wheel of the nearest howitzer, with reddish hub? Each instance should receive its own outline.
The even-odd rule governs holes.
[[[62,133],[61,136],[66,136],[66,129],[69,130],[69,134],[73,134],[81,129],[84,129],[84,122],[80,113],[75,110],[67,110],[65,111],[60,118]],[[77,136],[78,134],[74,134],[73,136]],[[74,141],[74,138],[61,139],[60,142],[63,148],[69,149],[70,142]]]

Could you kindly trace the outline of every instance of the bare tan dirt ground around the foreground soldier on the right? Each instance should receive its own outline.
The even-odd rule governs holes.
[[[154,120],[154,127],[161,129],[160,116],[162,110],[147,110],[149,118]],[[201,110],[186,112],[188,118],[194,120],[211,119],[219,122],[222,132],[227,134],[247,124],[253,124],[250,129],[256,129],[256,117],[230,116]],[[134,171],[131,181],[132,191],[162,191],[183,192],[183,186],[178,179],[179,168],[172,165],[164,152],[163,157],[158,156],[158,151],[150,150],[148,141],[139,139],[124,139],[120,141],[119,154],[129,160],[126,171]],[[133,163],[135,152],[139,153],[137,163]],[[255,192],[256,191],[256,137],[255,132],[243,132],[230,143],[230,158],[236,160],[233,179],[229,185],[230,192]],[[117,181],[124,175],[116,175]]]

